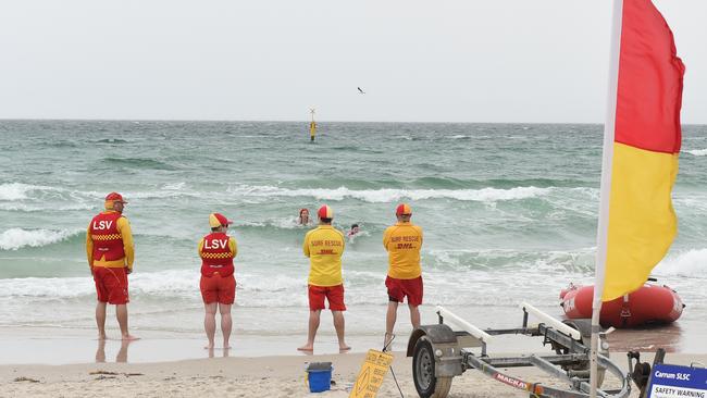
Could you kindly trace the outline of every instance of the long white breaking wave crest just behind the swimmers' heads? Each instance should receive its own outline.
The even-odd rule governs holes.
[[[456,199],[460,201],[501,201],[535,198],[550,192],[553,188],[516,187],[510,189],[287,189],[272,186],[237,186],[231,194],[245,197],[313,197],[318,200],[339,201],[346,198],[370,203],[388,203],[402,198],[412,200]]]

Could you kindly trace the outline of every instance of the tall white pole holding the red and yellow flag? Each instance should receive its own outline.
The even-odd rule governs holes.
[[[619,84],[619,54],[621,50],[621,20],[623,0],[613,0],[611,26],[611,50],[609,55],[609,84],[607,89],[606,121],[604,123],[604,149],[601,156],[601,185],[599,199],[599,223],[596,233],[596,262],[594,300],[592,302],[592,344],[590,355],[590,397],[596,398],[597,352],[599,345],[599,313],[606,274],[607,241],[609,229],[609,202],[611,196],[611,167],[613,163],[613,134],[616,128],[617,91]]]

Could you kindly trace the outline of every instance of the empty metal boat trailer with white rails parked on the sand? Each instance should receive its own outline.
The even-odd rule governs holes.
[[[452,312],[437,307],[439,323],[415,328],[408,341],[407,356],[412,357],[414,387],[422,398],[445,398],[451,381],[470,369],[477,370],[500,383],[528,391],[530,397],[588,397],[590,396],[590,320],[567,320],[560,322],[541,310],[521,303],[523,324],[506,329],[481,329]],[[539,323],[529,326],[529,315]],[[452,331],[448,321],[461,331]],[[486,353],[486,344],[497,335],[525,335],[543,338],[543,346],[549,345],[553,355],[529,355],[522,357],[494,358]],[[472,348],[481,348],[474,353]],[[609,345],[606,333],[599,334],[597,397],[624,398],[631,393],[631,374],[623,372],[608,358]],[[631,357],[629,358],[631,366]],[[501,372],[504,368],[536,366],[553,377],[566,382],[568,389],[547,386],[521,380]],[[631,368],[630,368],[631,369]],[[606,372],[618,377],[620,389],[604,390],[600,385]]]

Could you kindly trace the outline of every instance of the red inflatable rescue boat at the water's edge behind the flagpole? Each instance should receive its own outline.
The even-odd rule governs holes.
[[[591,319],[594,286],[570,286],[560,291],[560,306],[569,319]],[[604,327],[636,327],[667,324],[682,314],[685,306],[668,286],[646,283],[638,290],[601,304],[599,323]]]

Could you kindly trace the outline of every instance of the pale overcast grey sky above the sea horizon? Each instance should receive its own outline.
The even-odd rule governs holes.
[[[682,121],[707,124],[707,1],[654,2],[687,67]],[[0,119],[604,123],[611,8],[3,1]]]

